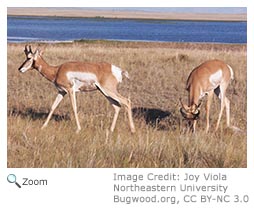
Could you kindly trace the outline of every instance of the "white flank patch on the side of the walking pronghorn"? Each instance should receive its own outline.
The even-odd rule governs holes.
[[[75,91],[80,91],[81,87],[91,87],[97,82],[97,76],[89,72],[68,72],[67,78],[73,82]]]

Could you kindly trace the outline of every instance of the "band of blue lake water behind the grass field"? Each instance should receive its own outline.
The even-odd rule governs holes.
[[[52,42],[82,39],[247,42],[247,22],[9,16],[7,28],[8,42]]]

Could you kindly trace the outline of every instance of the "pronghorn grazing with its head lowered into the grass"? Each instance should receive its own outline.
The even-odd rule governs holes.
[[[231,79],[234,78],[232,68],[220,60],[209,60],[190,73],[186,90],[189,92],[188,106],[181,99],[181,114],[188,120],[193,120],[192,130],[195,132],[197,119],[200,113],[200,99],[208,96],[206,103],[206,133],[209,130],[210,106],[215,93],[220,99],[220,113],[216,124],[219,127],[224,107],[226,107],[227,126],[230,126],[230,101],[226,97],[226,89]]]

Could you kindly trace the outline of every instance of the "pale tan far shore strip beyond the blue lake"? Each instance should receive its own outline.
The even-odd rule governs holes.
[[[55,18],[103,18],[103,19],[141,19],[141,20],[182,20],[182,21],[247,21],[247,14],[218,13],[174,13],[96,10],[81,8],[17,8],[9,7],[8,16],[55,17]]]

